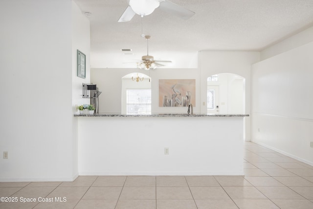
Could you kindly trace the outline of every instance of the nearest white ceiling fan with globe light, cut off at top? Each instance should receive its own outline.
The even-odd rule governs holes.
[[[195,12],[179,6],[169,0],[127,0],[128,7],[119,18],[118,22],[131,21],[135,14],[141,17],[150,15],[156,8],[176,15],[184,20],[191,18]]]

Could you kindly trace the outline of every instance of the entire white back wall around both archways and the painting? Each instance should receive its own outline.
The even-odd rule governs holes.
[[[121,113],[121,78],[129,73],[140,72],[151,77],[152,113],[186,113],[185,107],[158,107],[158,79],[196,79],[196,104],[194,113],[206,113],[207,77],[223,72],[235,73],[246,78],[246,114],[250,113],[250,70],[251,64],[259,61],[259,52],[201,51],[198,69],[91,69],[91,82],[99,91],[99,113]],[[227,60],[227,62],[225,61]],[[205,104],[203,105],[203,102]],[[246,118],[248,119],[248,118]],[[249,119],[248,119],[249,120]],[[249,128],[247,122],[247,131]],[[249,136],[249,133],[246,133]],[[246,139],[250,139],[246,137]]]

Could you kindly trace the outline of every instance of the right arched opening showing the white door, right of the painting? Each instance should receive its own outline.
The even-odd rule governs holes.
[[[207,78],[208,114],[245,114],[246,79],[233,73]]]

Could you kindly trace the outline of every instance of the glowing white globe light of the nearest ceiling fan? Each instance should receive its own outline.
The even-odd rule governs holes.
[[[130,0],[129,5],[134,13],[141,17],[150,15],[160,5],[158,0]]]

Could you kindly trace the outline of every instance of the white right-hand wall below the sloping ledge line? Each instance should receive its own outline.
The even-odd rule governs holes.
[[[313,165],[313,42],[252,66],[252,140]]]

